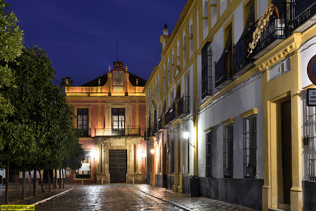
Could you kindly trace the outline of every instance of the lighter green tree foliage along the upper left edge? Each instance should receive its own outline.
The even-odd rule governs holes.
[[[8,62],[15,62],[23,48],[23,31],[17,23],[17,16],[10,12],[11,4],[0,1],[0,119],[13,112],[13,105],[9,99],[3,97],[6,87],[14,87],[14,75],[8,67]],[[7,12],[6,12],[6,11]]]

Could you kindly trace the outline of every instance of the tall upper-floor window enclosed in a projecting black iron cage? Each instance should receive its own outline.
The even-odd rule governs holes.
[[[212,42],[207,42],[202,49],[202,100],[212,95]]]

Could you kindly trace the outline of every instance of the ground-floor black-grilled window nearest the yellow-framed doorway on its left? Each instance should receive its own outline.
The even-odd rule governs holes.
[[[257,178],[257,114],[243,118],[244,179]]]

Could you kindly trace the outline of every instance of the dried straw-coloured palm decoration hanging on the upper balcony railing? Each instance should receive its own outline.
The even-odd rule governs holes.
[[[261,32],[263,32],[263,30],[265,30],[268,27],[270,22],[270,15],[272,15],[273,10],[276,10],[277,18],[279,18],[280,12],[276,8],[276,5],[270,4],[268,7],[265,8],[265,12],[263,12],[262,16],[259,18],[258,26],[252,34],[252,42],[249,43],[248,48],[248,57],[252,53],[252,50],[256,47],[258,40],[261,37]]]

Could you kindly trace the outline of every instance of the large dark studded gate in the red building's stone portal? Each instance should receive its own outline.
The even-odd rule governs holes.
[[[110,183],[126,183],[126,149],[109,149],[109,173]]]

